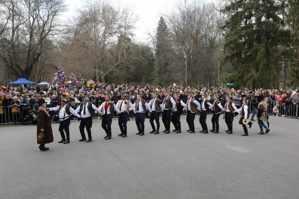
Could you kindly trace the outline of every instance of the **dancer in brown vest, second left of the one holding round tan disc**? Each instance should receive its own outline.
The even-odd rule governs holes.
[[[212,106],[212,111],[213,111],[213,116],[212,116],[212,130],[210,132],[212,133],[219,133],[219,116],[222,111],[224,111],[221,101],[219,100],[219,93],[216,93],[213,98],[214,98],[214,103]]]

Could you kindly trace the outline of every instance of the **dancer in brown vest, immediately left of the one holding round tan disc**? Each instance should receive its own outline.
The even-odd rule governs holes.
[[[223,111],[223,119],[225,119],[225,123],[227,125],[227,132],[226,134],[232,134],[233,133],[233,121],[235,117],[235,111],[237,111],[237,107],[235,106],[235,102],[230,99],[231,95],[226,95],[225,100],[226,103],[224,104],[224,111]]]

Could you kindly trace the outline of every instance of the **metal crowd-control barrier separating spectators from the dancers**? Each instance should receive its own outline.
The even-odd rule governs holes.
[[[202,99],[199,99],[199,103],[201,103],[201,100]],[[214,101],[215,101],[214,99],[209,100],[209,102],[211,104],[213,104]],[[290,117],[290,118],[298,118],[298,109],[297,109],[297,107],[295,107],[294,104],[281,103],[280,101],[277,101],[277,100],[265,100],[265,101],[267,102],[267,105],[268,105],[268,114],[269,115],[273,114],[273,108],[274,108],[274,106],[277,106],[279,109],[279,115]],[[150,102],[150,100],[147,101],[147,103],[149,103],[149,102]],[[187,100],[183,100],[183,102],[186,104]],[[101,105],[99,102],[90,102],[90,103],[94,104],[97,108]],[[117,104],[117,102],[115,101],[114,104]],[[224,107],[224,104],[225,104],[225,100],[221,100],[222,107]],[[235,104],[236,104],[236,107],[239,109],[242,106],[242,100],[235,99]],[[60,103],[47,104],[47,108],[54,108],[56,106],[60,106]],[[70,102],[69,106],[71,106],[73,109],[77,109],[80,106],[80,104],[75,103],[75,102]],[[1,106],[0,107],[0,124],[21,123],[22,121],[20,121],[20,114],[22,113],[24,108],[25,108],[24,106]],[[33,106],[31,105],[31,108],[38,111],[39,105],[38,104],[35,104]],[[251,101],[249,101],[249,110],[251,113],[254,112],[253,104],[251,103]],[[53,118],[52,118],[53,113],[54,113],[54,111],[49,111],[51,120],[53,120]],[[209,109],[207,111],[207,113],[212,114],[211,109]],[[146,114],[150,114],[150,113],[147,112]],[[187,114],[186,110],[184,110],[182,114],[186,115]],[[199,110],[197,110],[197,114],[200,114]],[[97,117],[95,117],[95,118],[98,118],[99,116],[100,116],[99,113],[97,113]],[[114,112],[113,117],[118,117],[118,114],[116,112]],[[133,111],[129,112],[129,117],[135,117],[135,114]],[[72,119],[77,120],[78,118],[76,116],[72,116]],[[33,116],[30,115],[27,119],[27,122],[32,122],[32,121],[33,121]]]

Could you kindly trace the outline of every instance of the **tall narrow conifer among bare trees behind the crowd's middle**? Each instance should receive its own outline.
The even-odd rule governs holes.
[[[169,80],[168,73],[169,58],[168,58],[168,45],[169,45],[169,32],[163,17],[160,17],[155,37],[155,53],[156,62],[153,71],[153,83],[155,85],[166,84]]]

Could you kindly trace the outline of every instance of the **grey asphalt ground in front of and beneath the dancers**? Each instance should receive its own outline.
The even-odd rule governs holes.
[[[52,124],[48,151],[37,148],[36,126],[1,126],[0,198],[299,198],[297,119],[270,116],[268,134],[258,135],[254,122],[248,137],[240,136],[239,116],[230,135],[223,119],[219,134],[199,133],[195,120],[197,133],[185,131],[182,116],[182,133],[153,135],[146,119],[144,136],[129,121],[121,138],[114,118],[107,141],[94,120],[90,143],[78,142],[76,121],[66,145],[57,143],[59,123]]]

